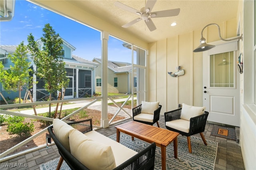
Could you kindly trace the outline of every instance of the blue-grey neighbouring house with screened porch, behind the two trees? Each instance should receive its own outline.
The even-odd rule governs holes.
[[[63,40],[63,39],[62,39]],[[42,42],[37,41],[39,48],[42,48]],[[0,60],[2,61],[5,69],[8,69],[10,65],[13,65],[11,61],[7,58],[9,53],[14,53],[18,45],[0,45]],[[64,55],[62,56],[64,62],[66,63],[65,68],[67,71],[67,77],[70,82],[65,91],[65,99],[78,98],[78,97],[90,97],[95,92],[95,68],[98,66],[98,63],[83,59],[76,55],[72,55],[72,51],[76,48],[70,43],[63,40],[63,51]],[[31,62],[31,68],[36,69],[30,54],[28,53],[28,59]],[[31,75],[32,76],[32,75]],[[34,75],[34,78],[35,75]],[[32,95],[34,101],[46,100],[48,98],[48,92],[44,89],[43,79],[36,78],[38,81],[37,84],[33,85]],[[7,99],[14,99],[18,97],[18,91],[5,91],[0,84],[1,93]],[[26,89],[22,91],[22,96],[24,97]],[[56,92],[57,94],[57,92]],[[56,94],[53,97],[56,97]]]

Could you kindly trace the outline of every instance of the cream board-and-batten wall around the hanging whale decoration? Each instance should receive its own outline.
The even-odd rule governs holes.
[[[236,36],[236,18],[222,23],[222,38]],[[148,56],[148,101],[160,101],[161,114],[178,108],[178,104],[202,106],[202,53],[193,53],[198,47],[202,30],[166,38],[149,44]],[[219,40],[218,28],[209,26],[204,30],[207,42]],[[171,77],[167,72],[175,73],[181,66],[185,75]]]

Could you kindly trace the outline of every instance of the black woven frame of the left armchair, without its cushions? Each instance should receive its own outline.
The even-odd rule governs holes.
[[[147,124],[147,125],[154,125],[155,123],[157,123],[157,126],[160,127],[158,121],[159,121],[159,117],[160,117],[161,108],[162,108],[162,105],[159,105],[159,106],[158,106],[158,109],[156,109],[156,110],[154,111],[154,119],[153,119],[153,122],[146,122],[146,121],[134,120],[134,117],[135,117],[136,115],[139,115],[139,114],[141,113],[142,104],[140,104],[140,105],[138,105],[138,106],[136,106],[136,107],[134,107],[134,108],[132,109],[132,119],[133,119],[134,121],[136,121],[136,122],[144,123],[144,124]]]

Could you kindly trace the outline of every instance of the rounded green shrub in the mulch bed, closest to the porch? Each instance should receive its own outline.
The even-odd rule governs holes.
[[[9,134],[18,134],[19,136],[29,135],[34,132],[34,124],[22,122],[12,123],[8,125],[6,131],[9,132]]]

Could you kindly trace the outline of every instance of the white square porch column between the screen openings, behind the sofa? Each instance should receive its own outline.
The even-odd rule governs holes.
[[[108,32],[101,32],[102,43],[102,127],[109,127],[108,124]]]

